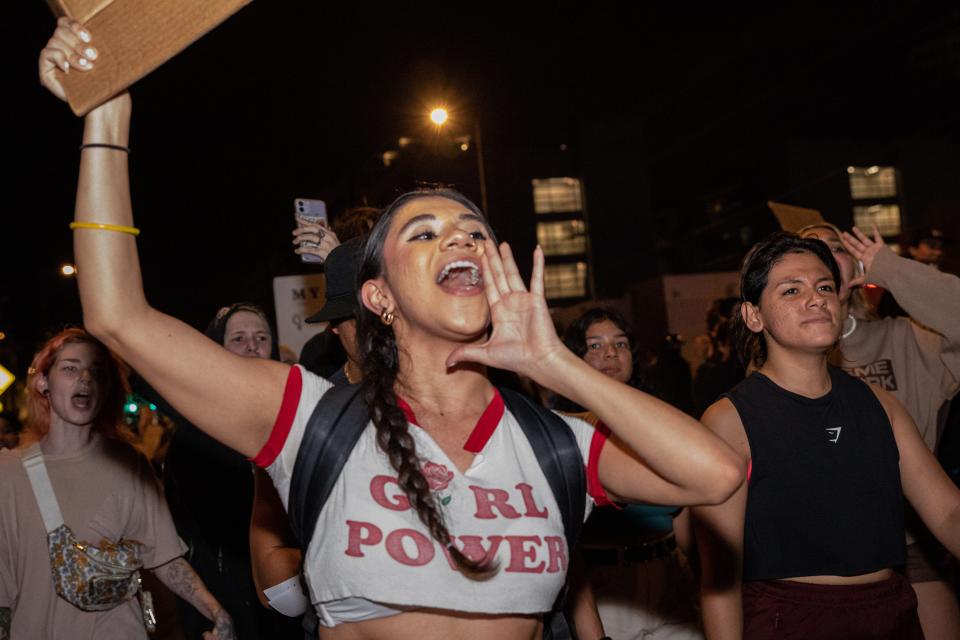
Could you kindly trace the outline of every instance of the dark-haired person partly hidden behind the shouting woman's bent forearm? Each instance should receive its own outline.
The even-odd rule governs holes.
[[[632,331],[616,311],[600,307],[585,311],[567,327],[563,342],[594,369],[644,388]],[[606,429],[595,414],[563,397],[559,400],[571,415]],[[600,626],[624,640],[702,640],[696,582],[685,555],[689,515],[679,507],[638,504],[598,506],[590,514],[571,571],[579,637],[589,637]]]

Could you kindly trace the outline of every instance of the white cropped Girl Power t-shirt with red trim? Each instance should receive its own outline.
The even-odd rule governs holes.
[[[265,467],[287,506],[304,428],[331,384],[299,366],[291,369],[269,440],[254,462]],[[403,403],[401,403],[403,404]],[[563,586],[569,550],[553,492],[530,443],[495,393],[464,448],[475,453],[461,473],[404,406],[421,468],[458,548],[472,558],[491,550],[499,570],[475,581],[457,571],[431,538],[397,484],[396,472],[363,432],[334,485],[305,558],[310,599],[362,598],[396,608],[430,607],[491,614],[549,611]],[[577,418],[573,430],[594,503],[607,503],[597,476],[605,435]]]

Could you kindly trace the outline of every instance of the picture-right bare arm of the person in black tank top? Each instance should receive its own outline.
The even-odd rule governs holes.
[[[900,452],[903,493],[943,546],[960,557],[960,489],[920,437],[917,425],[892,394],[871,385],[890,418]]]

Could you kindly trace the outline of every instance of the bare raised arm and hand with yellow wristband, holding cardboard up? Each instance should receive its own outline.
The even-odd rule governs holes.
[[[40,55],[41,83],[64,96],[60,74],[96,64],[95,34],[66,18]],[[235,356],[188,325],[152,308],[143,292],[127,173],[131,101],[121,94],[84,122],[74,253],[84,324],[188,420],[248,456],[266,441],[287,367]]]

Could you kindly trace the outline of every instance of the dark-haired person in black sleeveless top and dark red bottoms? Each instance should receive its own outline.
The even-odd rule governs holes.
[[[960,490],[892,395],[829,367],[840,277],[821,242],[777,233],[741,269],[737,332],[753,373],[703,422],[750,465],[694,510],[707,636],[922,638],[903,496],[955,555]]]

